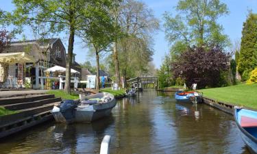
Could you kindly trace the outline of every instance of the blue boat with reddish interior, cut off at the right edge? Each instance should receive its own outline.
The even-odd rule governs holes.
[[[249,151],[257,153],[257,112],[235,108],[234,120]]]

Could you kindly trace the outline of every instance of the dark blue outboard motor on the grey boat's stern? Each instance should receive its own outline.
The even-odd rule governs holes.
[[[75,107],[77,107],[77,101],[68,99],[60,103],[60,112],[66,121],[71,121],[75,118]]]

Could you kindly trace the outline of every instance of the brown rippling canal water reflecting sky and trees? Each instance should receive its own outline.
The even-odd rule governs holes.
[[[95,123],[44,123],[0,142],[0,153],[249,153],[233,117],[205,104],[177,103],[173,93],[144,90],[117,102]]]

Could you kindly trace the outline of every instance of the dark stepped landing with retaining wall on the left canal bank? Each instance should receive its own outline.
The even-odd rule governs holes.
[[[0,116],[0,138],[51,120],[53,105],[62,99],[45,90],[17,90],[0,92],[0,105],[18,113]]]

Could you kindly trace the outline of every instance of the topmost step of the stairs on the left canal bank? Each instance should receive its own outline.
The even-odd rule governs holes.
[[[0,105],[10,105],[54,98],[54,94],[27,95],[23,97],[10,97],[0,99]]]

